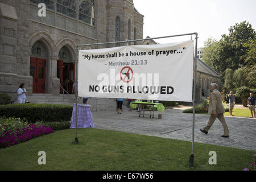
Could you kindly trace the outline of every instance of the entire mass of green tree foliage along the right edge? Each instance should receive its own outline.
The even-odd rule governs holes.
[[[209,38],[204,44],[203,61],[220,73],[226,90],[256,85],[256,33],[244,21],[229,28],[221,39]]]

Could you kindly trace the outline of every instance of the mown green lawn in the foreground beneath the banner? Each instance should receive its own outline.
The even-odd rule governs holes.
[[[0,170],[191,170],[191,142],[101,129],[61,130],[0,149]],[[39,165],[39,151],[46,165]],[[209,151],[217,164],[210,165]],[[247,167],[255,151],[195,143],[192,170],[238,170]]]

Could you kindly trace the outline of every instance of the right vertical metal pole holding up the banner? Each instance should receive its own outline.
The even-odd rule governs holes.
[[[194,85],[193,85],[193,123],[192,123],[192,152],[189,156],[189,167],[194,166],[194,137],[195,137],[195,102],[196,102],[196,56],[197,56],[197,33],[195,46],[195,64],[194,64]]]

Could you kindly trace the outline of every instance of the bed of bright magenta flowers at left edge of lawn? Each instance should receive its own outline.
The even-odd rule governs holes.
[[[0,148],[9,147],[20,142],[26,142],[32,138],[53,132],[54,131],[50,127],[39,125],[27,125],[26,127],[16,129],[15,131],[9,130],[0,135]]]

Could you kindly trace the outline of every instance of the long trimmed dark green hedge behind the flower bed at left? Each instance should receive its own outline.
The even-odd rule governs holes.
[[[0,105],[0,117],[26,118],[29,123],[37,121],[70,121],[73,106],[61,104],[9,104]]]

